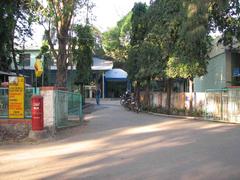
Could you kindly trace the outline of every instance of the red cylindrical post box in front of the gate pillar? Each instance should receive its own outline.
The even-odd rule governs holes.
[[[31,99],[32,110],[32,130],[43,130],[43,97],[32,96]]]

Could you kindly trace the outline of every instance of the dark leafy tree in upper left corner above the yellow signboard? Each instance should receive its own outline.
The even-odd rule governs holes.
[[[13,62],[18,75],[15,46],[32,35],[32,13],[27,0],[1,1],[0,7],[0,69],[9,70]]]

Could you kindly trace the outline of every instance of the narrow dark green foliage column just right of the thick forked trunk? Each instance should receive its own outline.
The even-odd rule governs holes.
[[[87,84],[91,78],[92,49],[94,38],[90,26],[77,25],[74,28],[76,37],[73,39],[73,62],[77,64],[75,84]]]

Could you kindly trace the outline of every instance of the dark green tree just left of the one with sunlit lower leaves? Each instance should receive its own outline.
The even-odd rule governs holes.
[[[179,28],[182,20],[182,1],[179,0],[156,0],[148,11],[148,31],[149,35],[161,49],[161,57],[166,67],[167,61],[174,55],[176,42],[179,37]],[[166,72],[166,69],[165,69]],[[171,110],[172,78],[166,73],[162,77],[167,77],[167,109]]]

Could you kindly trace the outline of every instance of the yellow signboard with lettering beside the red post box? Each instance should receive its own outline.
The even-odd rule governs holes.
[[[24,77],[9,77],[8,116],[9,118],[24,118]]]

